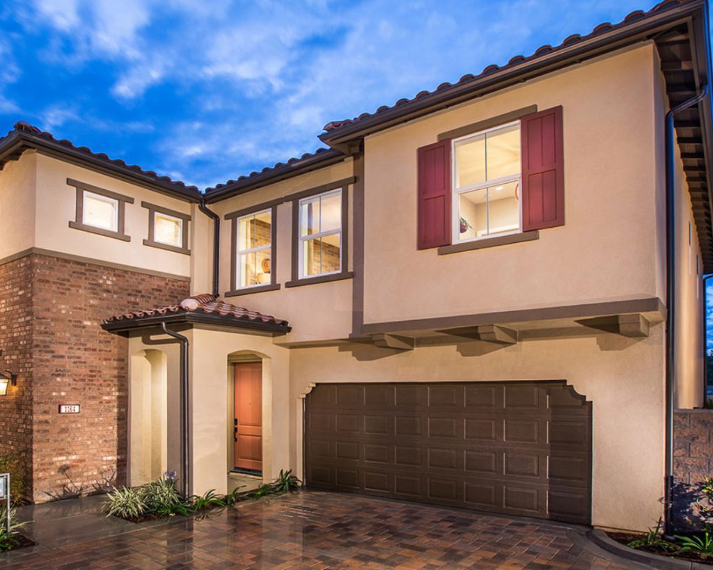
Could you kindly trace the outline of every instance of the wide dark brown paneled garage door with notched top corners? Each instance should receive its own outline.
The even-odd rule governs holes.
[[[563,381],[319,384],[308,487],[589,524],[592,405]]]

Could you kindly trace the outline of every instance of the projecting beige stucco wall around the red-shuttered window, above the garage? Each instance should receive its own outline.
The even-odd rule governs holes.
[[[646,44],[618,52],[367,137],[364,321],[660,294],[654,51]],[[417,251],[417,148],[533,104],[563,105],[565,225],[506,247]]]

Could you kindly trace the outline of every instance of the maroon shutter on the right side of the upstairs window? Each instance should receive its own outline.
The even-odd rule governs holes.
[[[562,106],[520,119],[523,232],[565,224]]]

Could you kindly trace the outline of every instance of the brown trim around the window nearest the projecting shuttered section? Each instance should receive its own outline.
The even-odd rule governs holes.
[[[299,285],[309,285],[313,283],[327,283],[328,281],[339,281],[339,279],[351,279],[354,274],[347,271],[349,268],[349,185],[356,182],[356,177],[352,176],[337,180],[329,184],[303,190],[285,198],[292,202],[292,280],[284,284],[285,287],[297,287]],[[331,192],[332,190],[342,190],[342,271],[328,275],[316,275],[314,277],[299,277],[299,200]]]

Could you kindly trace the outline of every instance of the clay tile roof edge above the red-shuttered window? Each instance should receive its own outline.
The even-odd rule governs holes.
[[[398,101],[396,101],[396,103],[394,103],[394,105],[391,105],[391,106],[381,105],[381,107],[379,107],[374,113],[361,113],[361,115],[359,115],[358,117],[352,118],[352,119],[334,120],[330,123],[327,123],[327,125],[324,125],[324,130],[327,132],[327,134],[329,134],[334,130],[337,130],[342,127],[347,127],[349,125],[355,125],[356,123],[360,123],[361,121],[364,121],[368,118],[374,117],[375,115],[382,115],[384,113],[388,113],[389,111],[393,110],[396,107],[401,107],[401,105],[407,105],[409,103],[413,103],[416,100],[421,100],[423,98],[431,97],[436,94],[441,95],[442,93],[444,93],[448,90],[453,90],[460,86],[466,85],[466,83],[478,81],[478,79],[488,76],[491,73],[495,73],[496,71],[503,71],[506,69],[515,68],[515,66],[533,61],[541,56],[544,56],[547,53],[551,53],[551,52],[557,51],[561,48],[566,48],[568,46],[572,46],[575,43],[580,43],[582,41],[588,40],[595,36],[599,36],[600,34],[608,32],[608,31],[612,31],[612,29],[615,29],[615,28],[624,27],[627,24],[631,24],[632,22],[646,18],[647,16],[658,14],[662,11],[666,11],[668,9],[675,8],[682,4],[687,4],[690,1],[692,1],[692,0],[663,0],[659,4],[656,4],[656,6],[654,6],[652,9],[650,9],[647,12],[643,12],[641,10],[633,11],[631,14],[626,16],[625,19],[620,21],[618,24],[612,25],[609,22],[599,24],[598,26],[595,26],[595,28],[593,28],[593,30],[590,33],[588,33],[586,36],[580,36],[578,33],[575,33],[575,34],[565,38],[565,40],[562,43],[560,43],[560,45],[558,45],[558,46],[555,46],[555,47],[552,47],[549,45],[540,46],[530,56],[515,56],[510,61],[508,61],[508,63],[506,63],[504,66],[497,66],[496,64],[491,63],[491,65],[486,66],[486,68],[484,68],[483,71],[481,71],[480,75],[473,76],[470,73],[468,73],[467,75],[461,77],[461,79],[458,80],[456,83],[452,83],[452,84],[451,83],[441,83],[441,85],[439,85],[435,90],[420,91],[412,99],[399,99]],[[326,134],[322,135],[321,138],[324,138],[324,140],[327,140]]]

